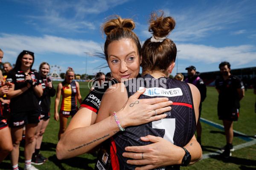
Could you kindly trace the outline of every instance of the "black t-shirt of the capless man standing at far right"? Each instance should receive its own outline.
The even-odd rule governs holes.
[[[238,88],[244,89],[243,82],[236,76],[230,75],[226,80],[222,75],[215,81],[215,88],[220,91],[218,107],[240,108]]]

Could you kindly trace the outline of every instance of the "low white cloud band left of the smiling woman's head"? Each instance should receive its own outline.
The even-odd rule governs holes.
[[[49,35],[30,37],[17,34],[0,34],[0,46],[15,57],[23,49],[40,54],[58,53],[78,56],[84,56],[84,52],[102,50],[100,44],[92,40],[74,40]]]

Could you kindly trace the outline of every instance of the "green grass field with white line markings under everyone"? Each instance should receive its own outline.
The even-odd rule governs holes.
[[[56,88],[59,82],[53,82]],[[88,92],[87,82],[79,82],[81,96],[84,98]],[[233,145],[236,149],[232,152],[232,157],[223,159],[219,156],[219,147],[226,144],[224,130],[211,123],[201,122],[202,125],[202,149],[203,159],[189,167],[181,167],[183,170],[255,170],[256,169],[256,142],[252,139],[256,134],[256,113],[254,113],[254,103],[256,95],[252,89],[245,92],[241,100],[241,109],[239,121],[234,122],[233,129],[240,133],[234,134]],[[51,105],[51,118],[46,132],[44,133],[41,145],[41,153],[48,157],[48,160],[42,165],[35,165],[39,170],[93,170],[96,157],[91,154],[84,154],[72,159],[58,160],[56,158],[55,147],[58,142],[59,122],[53,119],[54,97]],[[217,117],[218,92],[214,87],[207,87],[207,98],[203,102],[202,118],[210,122],[222,125]],[[242,134],[241,134],[242,133]],[[245,136],[243,135],[245,134]],[[3,136],[1,136],[3,137]],[[247,146],[253,142],[254,144]],[[24,155],[23,146],[20,145],[19,168],[23,170]],[[239,149],[241,148],[241,149]],[[213,155],[213,156],[212,156]],[[214,156],[215,155],[215,156]],[[209,156],[210,158],[208,158]],[[10,160],[7,157],[0,164],[0,170],[11,169]]]

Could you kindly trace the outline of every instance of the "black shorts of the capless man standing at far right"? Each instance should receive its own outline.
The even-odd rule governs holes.
[[[237,121],[239,118],[239,108],[218,107],[219,120]]]

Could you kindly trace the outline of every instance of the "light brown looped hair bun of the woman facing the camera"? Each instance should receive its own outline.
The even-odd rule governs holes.
[[[102,35],[104,32],[108,36],[112,30],[121,28],[133,30],[135,23],[131,19],[124,19],[118,15],[112,15],[102,24]]]

